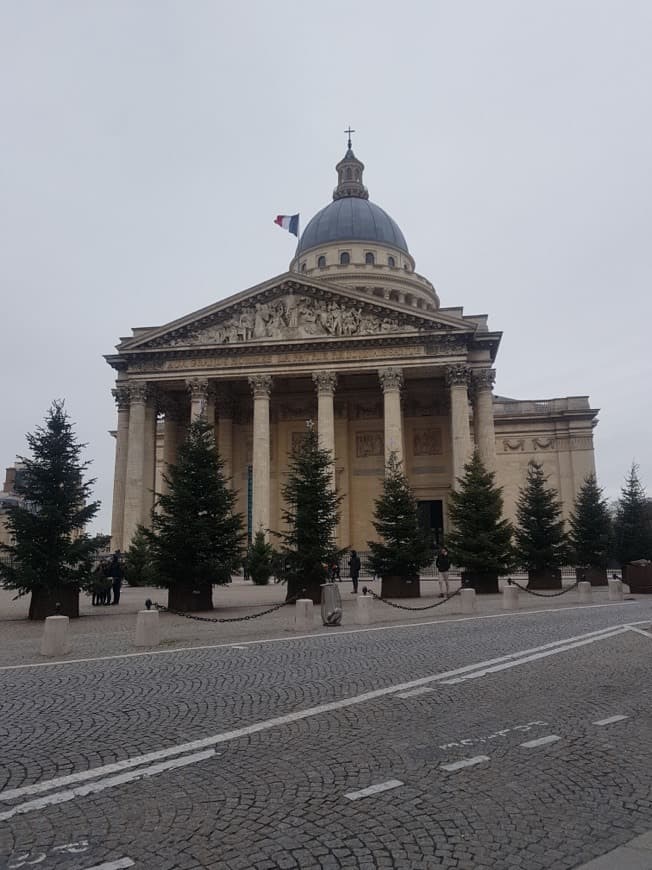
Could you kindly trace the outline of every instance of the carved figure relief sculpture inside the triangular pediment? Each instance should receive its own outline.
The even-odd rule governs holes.
[[[315,298],[288,293],[274,299],[249,300],[237,309],[218,314],[214,322],[189,325],[176,334],[160,336],[149,347],[241,344],[251,341],[287,341],[308,338],[339,338],[381,335],[397,330],[418,332],[423,326],[442,329],[442,324],[403,315],[356,300]]]

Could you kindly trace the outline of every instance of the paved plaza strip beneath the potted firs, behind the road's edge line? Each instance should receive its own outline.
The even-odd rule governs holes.
[[[360,582],[360,589],[368,586],[376,594],[380,594],[380,581]],[[451,583],[451,591],[459,588],[459,583]],[[324,629],[319,618],[319,608],[315,607],[315,630],[329,632],[346,631],[356,627],[355,596],[351,594],[351,584],[348,580],[340,583],[343,603],[342,625],[339,628]],[[455,619],[462,616],[461,599],[455,596],[450,601],[439,603],[439,583],[434,580],[421,581],[421,598],[401,599],[403,607],[423,608],[425,610],[405,610],[391,607],[380,601],[372,605],[372,626],[392,625],[394,623],[424,622],[431,620]],[[274,604],[280,604],[286,593],[282,584],[269,586],[254,586],[242,579],[234,579],[233,583],[216,587],[213,591],[215,609],[210,613],[198,614],[210,619],[242,617],[265,610]],[[71,652],[62,658],[77,659],[96,656],[120,655],[133,653],[136,614],[144,609],[145,600],[165,604],[167,592],[163,589],[144,587],[124,587],[120,604],[114,606],[93,607],[89,596],[82,595],[80,600],[80,618],[70,621]],[[562,596],[540,598],[519,592],[520,610],[563,609],[577,606],[579,594],[573,589]],[[31,664],[52,661],[40,655],[40,640],[43,633],[42,622],[30,622],[26,619],[29,598],[25,596],[17,601],[12,600],[13,593],[0,589],[0,666]],[[593,603],[606,604],[608,601],[606,587],[593,589]],[[503,613],[501,595],[479,595],[476,598],[476,614],[478,616]],[[186,619],[182,616],[162,613],[161,645],[158,649],[174,649],[177,647],[194,647],[220,643],[237,643],[243,640],[263,640],[295,634],[293,628],[294,608],[292,605],[281,607],[273,613],[268,613],[256,619],[244,622],[216,623]]]

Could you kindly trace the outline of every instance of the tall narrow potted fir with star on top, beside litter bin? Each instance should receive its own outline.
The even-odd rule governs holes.
[[[290,456],[288,478],[281,489],[287,527],[279,534],[287,577],[287,597],[305,588],[308,598],[321,600],[328,566],[339,558],[335,543],[339,505],[333,489],[333,457],[319,446],[312,422],[307,424],[301,445]]]

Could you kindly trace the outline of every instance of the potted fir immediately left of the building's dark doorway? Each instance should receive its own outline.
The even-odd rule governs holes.
[[[383,491],[374,506],[374,528],[380,541],[367,541],[369,565],[378,577],[412,580],[432,560],[427,533],[421,528],[417,500],[396,453],[385,469]]]

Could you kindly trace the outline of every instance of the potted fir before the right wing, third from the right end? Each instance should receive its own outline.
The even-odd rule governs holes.
[[[531,460],[516,504],[516,559],[531,572],[560,568],[568,553],[561,503],[547,480],[543,465]]]

